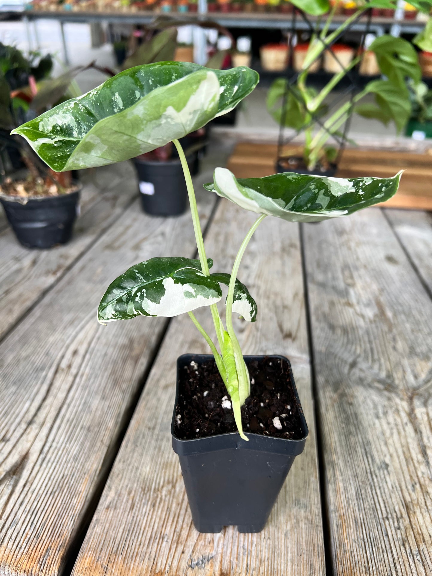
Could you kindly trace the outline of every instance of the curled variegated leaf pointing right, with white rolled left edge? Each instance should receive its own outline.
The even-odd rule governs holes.
[[[237,180],[226,168],[216,168],[213,183],[204,188],[257,214],[290,222],[319,222],[385,202],[396,194],[400,175],[344,179],[284,172]]]

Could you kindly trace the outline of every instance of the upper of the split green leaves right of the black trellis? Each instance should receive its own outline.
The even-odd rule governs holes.
[[[392,84],[406,88],[406,77],[419,82],[422,77],[418,55],[410,42],[394,36],[379,36],[370,45],[378,66]]]

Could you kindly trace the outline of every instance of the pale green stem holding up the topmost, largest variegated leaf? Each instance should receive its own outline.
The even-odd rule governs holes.
[[[180,142],[175,139],[173,140],[174,146],[179,153],[181,167],[183,168],[184,179],[186,181],[186,187],[188,191],[189,197],[189,204],[191,207],[191,214],[192,214],[192,223],[194,224],[194,233],[195,233],[195,240],[196,240],[196,247],[198,248],[198,257],[199,262],[201,264],[201,269],[203,274],[206,276],[210,276],[209,271],[209,264],[207,264],[207,256],[206,256],[206,249],[204,248],[204,240],[203,234],[201,232],[201,226],[199,223],[199,214],[198,214],[198,207],[196,206],[196,198],[195,198],[195,191],[194,191],[194,184],[192,183],[191,173],[189,171],[188,162],[184,155],[183,148],[181,147]],[[218,338],[219,348],[222,350],[223,346],[223,325],[221,317],[219,316],[218,307],[215,304],[210,306],[211,317],[213,318],[214,328],[216,330],[216,335]]]

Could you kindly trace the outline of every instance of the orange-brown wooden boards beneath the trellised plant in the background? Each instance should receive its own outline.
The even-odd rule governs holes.
[[[284,154],[301,156],[302,146],[285,146]],[[228,168],[238,178],[260,178],[275,172],[277,146],[242,142],[236,146]],[[389,150],[344,150],[336,176],[394,176],[404,169],[399,190],[386,207],[432,210],[431,154],[412,154]]]

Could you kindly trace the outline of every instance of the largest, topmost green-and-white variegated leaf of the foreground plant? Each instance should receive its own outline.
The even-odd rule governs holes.
[[[137,66],[13,132],[56,172],[128,160],[198,130],[255,88],[247,68],[189,62]]]

